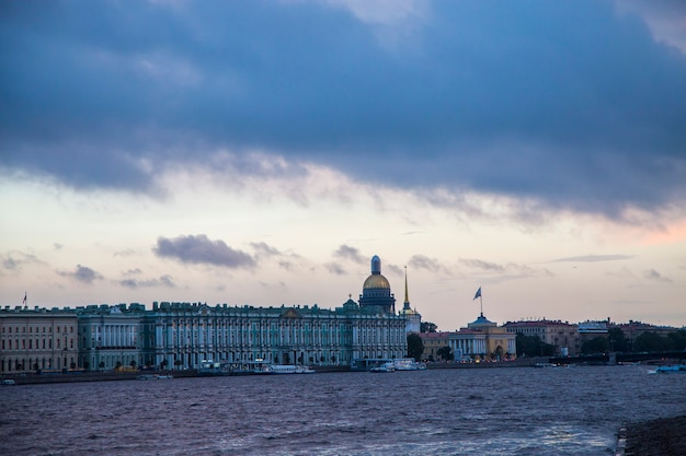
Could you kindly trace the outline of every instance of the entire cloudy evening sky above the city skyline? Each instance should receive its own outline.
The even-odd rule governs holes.
[[[686,3],[0,4],[0,305],[686,325]],[[482,301],[473,300],[482,289]]]

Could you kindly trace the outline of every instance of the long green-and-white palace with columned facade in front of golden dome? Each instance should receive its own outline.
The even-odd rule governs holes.
[[[405,319],[348,300],[342,307],[208,306],[153,303],[141,321],[146,365],[195,369],[227,364],[350,365],[354,359],[403,358]]]

